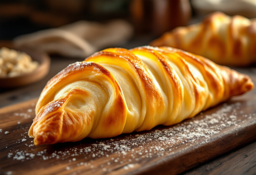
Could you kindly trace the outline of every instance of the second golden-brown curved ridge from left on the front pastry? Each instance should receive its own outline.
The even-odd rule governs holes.
[[[104,59],[102,59],[102,57],[104,57]],[[109,62],[112,65],[115,65],[115,60],[121,61],[123,66],[128,65],[131,68],[131,71],[134,70],[136,72],[134,76],[137,79],[139,88],[143,89],[140,93],[144,101],[143,106],[146,108],[144,109],[146,114],[141,117],[140,127],[137,128],[136,131],[152,129],[157,124],[152,127],[152,125],[149,125],[148,123],[152,122],[152,120],[154,123],[158,123],[157,118],[159,112],[156,109],[161,109],[162,106],[164,106],[164,103],[161,92],[155,86],[153,77],[148,73],[148,69],[144,63],[129,50],[123,48],[105,49],[86,59],[86,61],[94,61],[100,64]],[[123,68],[125,69],[125,67]]]

